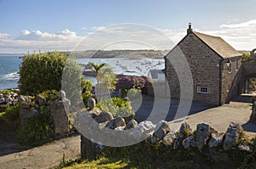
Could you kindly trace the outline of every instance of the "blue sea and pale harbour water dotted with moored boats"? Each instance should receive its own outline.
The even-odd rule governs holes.
[[[123,75],[133,76],[148,76],[149,70],[163,70],[165,69],[164,59],[76,59],[81,65],[86,65],[89,62],[108,63],[113,67],[114,72]],[[20,79],[19,70],[22,63],[20,55],[2,56],[0,55],[0,90],[18,87]],[[93,84],[96,84],[96,78],[86,76]]]

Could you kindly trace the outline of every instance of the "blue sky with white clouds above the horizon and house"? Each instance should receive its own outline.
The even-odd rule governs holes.
[[[107,41],[106,30],[109,33],[113,25],[119,25],[119,31],[125,32],[123,39],[129,39],[131,26],[124,23],[147,25],[177,43],[189,22],[195,31],[223,37],[236,49],[251,50],[256,48],[255,6],[255,0],[0,0],[0,53],[76,49],[84,37],[101,29],[104,38],[102,34],[94,38]],[[137,36],[147,37],[144,29],[134,29],[132,35],[143,31]]]

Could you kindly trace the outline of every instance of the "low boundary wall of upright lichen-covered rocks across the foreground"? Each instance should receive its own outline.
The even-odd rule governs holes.
[[[253,149],[255,149],[255,144],[252,139],[245,135],[241,125],[236,122],[231,122],[226,132],[218,132],[207,123],[198,124],[196,130],[192,131],[189,124],[185,121],[181,124],[178,131],[173,131],[172,125],[168,121],[160,121],[156,125],[151,121],[142,121],[140,123],[137,123],[137,121],[133,119],[131,121],[125,121],[122,117],[113,118],[110,113],[101,112],[96,108],[85,110],[81,115],[90,115],[90,117],[98,122],[99,128],[102,130],[104,130],[104,128],[112,129],[117,132],[129,130],[133,137],[146,133],[148,134],[147,139],[151,144],[157,144],[161,141],[172,149],[195,148],[201,153],[208,150],[225,152],[231,149],[239,149],[252,153]],[[90,130],[90,128],[87,130]],[[108,139],[108,137],[106,137],[106,139]],[[121,138],[116,138],[117,143],[119,141],[118,139]],[[86,158],[89,155],[96,155],[100,153],[102,149],[104,149],[104,146],[94,143],[94,138],[85,138],[81,135],[82,157]]]

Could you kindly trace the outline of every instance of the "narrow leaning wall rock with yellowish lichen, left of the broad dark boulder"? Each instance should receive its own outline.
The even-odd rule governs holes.
[[[179,128],[176,138],[174,139],[173,149],[179,149],[183,142],[183,139],[188,137],[190,132],[192,132],[192,129],[189,126],[189,123],[184,121],[181,127]]]

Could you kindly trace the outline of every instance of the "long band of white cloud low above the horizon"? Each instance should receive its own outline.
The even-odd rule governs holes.
[[[237,21],[236,21],[237,22]],[[195,31],[224,38],[237,50],[256,48],[256,20],[222,25],[218,30]],[[186,35],[180,30],[155,29],[147,25],[113,25],[86,28],[87,37],[64,29],[55,33],[23,30],[19,37],[0,32],[0,53],[26,53],[27,51],[87,50],[87,49],[172,49]]]

